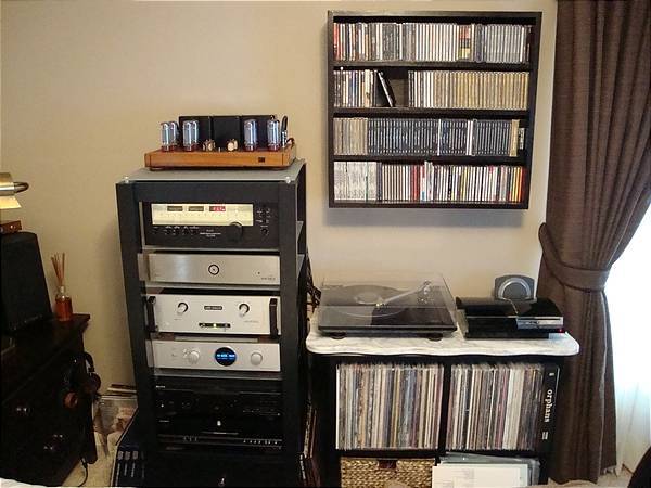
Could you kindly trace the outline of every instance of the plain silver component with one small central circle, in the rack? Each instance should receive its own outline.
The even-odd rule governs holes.
[[[162,283],[279,285],[280,257],[246,254],[145,253],[140,279]]]

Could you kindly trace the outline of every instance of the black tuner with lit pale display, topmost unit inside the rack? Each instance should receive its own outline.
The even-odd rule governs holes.
[[[271,203],[143,203],[144,242],[168,247],[278,248]]]

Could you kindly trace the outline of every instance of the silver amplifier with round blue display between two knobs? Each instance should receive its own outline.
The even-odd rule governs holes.
[[[152,341],[154,368],[280,371],[280,345],[260,342]]]

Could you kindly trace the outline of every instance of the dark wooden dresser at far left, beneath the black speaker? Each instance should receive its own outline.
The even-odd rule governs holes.
[[[2,335],[3,478],[59,486],[81,458],[97,460],[85,382],[89,319],[75,314]]]

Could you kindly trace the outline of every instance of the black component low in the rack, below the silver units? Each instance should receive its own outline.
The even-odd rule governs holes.
[[[154,388],[157,437],[164,445],[282,448],[280,382],[161,376]]]

